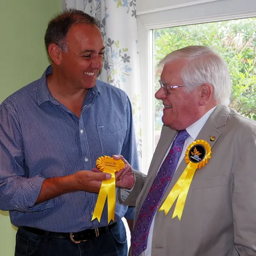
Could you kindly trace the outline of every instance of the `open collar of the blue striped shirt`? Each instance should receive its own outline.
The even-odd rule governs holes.
[[[38,81],[38,94],[37,94],[38,105],[41,105],[47,101],[51,101],[55,105],[60,105],[60,102],[58,102],[58,100],[52,97],[51,92],[49,91],[49,88],[47,85],[47,76],[49,74],[52,74],[52,65],[49,65],[49,67],[46,68],[44,74]],[[97,93],[100,93],[99,81],[96,81],[95,86],[93,86],[93,88],[90,89],[89,92],[92,93],[93,95],[97,95]]]

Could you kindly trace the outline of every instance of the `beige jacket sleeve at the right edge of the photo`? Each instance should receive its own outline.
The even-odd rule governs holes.
[[[256,131],[239,148],[233,172],[234,243],[241,256],[256,255]]]

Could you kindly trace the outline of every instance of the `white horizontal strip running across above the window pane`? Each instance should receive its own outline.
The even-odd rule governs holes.
[[[145,0],[139,0],[145,1]],[[164,1],[164,0],[158,0]],[[179,26],[211,22],[241,17],[254,17],[256,0],[218,0],[209,3],[177,7],[170,10],[150,12],[138,15],[139,35],[140,24],[152,28]]]

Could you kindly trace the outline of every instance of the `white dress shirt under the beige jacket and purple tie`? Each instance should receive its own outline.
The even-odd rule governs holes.
[[[189,144],[191,144],[193,141],[196,140],[196,137],[198,136],[199,132],[202,130],[205,122],[207,121],[207,119],[209,118],[209,116],[211,115],[211,113],[214,111],[215,108],[216,108],[216,106],[214,108],[212,108],[211,110],[209,110],[207,113],[205,113],[204,116],[202,116],[198,121],[196,121],[194,124],[190,125],[186,129],[186,131],[189,134],[189,137],[185,140],[184,147],[183,147],[183,150],[181,152],[179,162],[177,164],[177,168],[179,167],[181,161],[184,159],[185,153],[186,153],[186,150],[187,150]],[[168,150],[167,150],[167,152],[166,152],[166,154],[163,158],[163,161],[164,161],[165,157],[167,156],[167,154],[169,153],[171,147],[172,147],[172,144],[168,148]],[[162,161],[162,163],[163,163],[163,161]],[[161,165],[162,165],[162,163],[161,163]],[[160,166],[159,166],[159,168],[160,168]],[[177,170],[177,168],[176,168],[176,170]],[[175,170],[175,172],[176,172],[176,170]],[[154,218],[152,220],[152,224],[151,224],[151,227],[150,227],[150,230],[149,230],[147,249],[143,253],[141,253],[141,256],[151,256],[152,236],[153,236],[155,218],[156,218],[156,215],[154,216]]]

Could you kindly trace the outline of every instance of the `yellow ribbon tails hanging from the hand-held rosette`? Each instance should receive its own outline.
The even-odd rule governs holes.
[[[104,170],[106,172],[106,170]],[[92,216],[92,221],[96,218],[100,222],[102,212],[106,199],[108,197],[108,223],[110,221],[115,221],[115,207],[116,207],[116,179],[115,179],[116,170],[108,170],[108,173],[111,174],[111,179],[103,180],[100,186],[99,196],[95,205],[95,209]],[[106,172],[107,173],[107,172]]]

